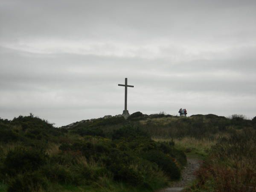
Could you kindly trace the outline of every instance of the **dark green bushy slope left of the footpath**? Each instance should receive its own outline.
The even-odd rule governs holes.
[[[96,119],[64,129],[32,114],[0,119],[0,189],[154,191],[178,179],[185,154],[127,122]]]

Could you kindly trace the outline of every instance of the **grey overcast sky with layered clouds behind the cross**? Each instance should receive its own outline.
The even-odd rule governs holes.
[[[256,116],[255,0],[0,0],[0,117]]]

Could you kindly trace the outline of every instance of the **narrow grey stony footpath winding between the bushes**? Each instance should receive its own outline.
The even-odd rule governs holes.
[[[195,171],[199,169],[200,164],[201,160],[188,158],[186,167],[184,167],[184,169],[181,171],[181,180],[173,183],[172,186],[166,189],[161,189],[160,191],[157,192],[182,191],[187,184],[195,180]]]

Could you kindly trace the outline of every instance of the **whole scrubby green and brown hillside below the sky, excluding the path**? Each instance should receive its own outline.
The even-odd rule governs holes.
[[[150,192],[180,178],[186,155],[205,160],[188,191],[252,190],[255,130],[240,115],[136,112],[62,128],[32,114],[0,119],[0,191]]]

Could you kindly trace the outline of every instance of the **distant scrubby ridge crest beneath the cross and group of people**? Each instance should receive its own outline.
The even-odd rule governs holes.
[[[255,119],[255,118],[254,118]],[[83,135],[108,136],[122,125],[138,126],[151,137],[181,138],[212,137],[214,134],[231,133],[233,130],[255,126],[255,120],[245,119],[242,115],[231,118],[214,114],[180,117],[164,113],[145,115],[140,112],[131,114],[128,119],[121,117],[99,118],[76,122],[64,127]]]

